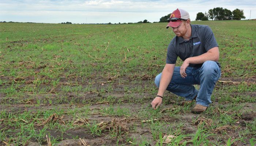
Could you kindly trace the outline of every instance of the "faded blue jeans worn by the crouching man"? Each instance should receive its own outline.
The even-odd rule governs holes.
[[[174,68],[172,80],[167,87],[170,91],[178,96],[185,97],[185,100],[193,100],[196,97],[196,104],[209,106],[211,103],[211,94],[216,82],[221,77],[221,69],[214,61],[206,61],[201,67],[187,67],[187,77],[182,78],[180,75],[180,66]],[[159,88],[162,73],[155,77],[155,85]],[[199,84],[197,90],[193,85]]]

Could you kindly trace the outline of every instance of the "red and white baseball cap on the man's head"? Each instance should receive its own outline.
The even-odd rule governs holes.
[[[181,19],[189,19],[189,14],[187,11],[183,10],[183,9],[176,9],[175,11],[172,12],[172,14],[170,15],[170,18],[181,18]],[[177,20],[175,22],[170,21],[168,23],[168,25],[166,26],[166,28],[169,27],[178,27],[181,23],[181,20]]]

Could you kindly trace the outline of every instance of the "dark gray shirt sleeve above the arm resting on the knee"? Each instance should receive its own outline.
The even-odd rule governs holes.
[[[218,43],[211,28],[207,26],[204,31],[204,48],[206,51],[212,49],[213,47],[218,47]]]

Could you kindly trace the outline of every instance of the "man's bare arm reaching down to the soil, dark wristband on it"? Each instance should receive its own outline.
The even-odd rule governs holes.
[[[161,76],[157,95],[163,96],[163,93],[165,92],[167,86],[170,84],[170,81],[172,80],[174,67],[175,67],[175,64],[165,64],[165,68],[163,68],[163,71],[162,71],[162,76]],[[151,103],[152,108],[154,108],[154,110],[157,109],[161,103],[162,103],[162,98],[155,97],[155,99]]]

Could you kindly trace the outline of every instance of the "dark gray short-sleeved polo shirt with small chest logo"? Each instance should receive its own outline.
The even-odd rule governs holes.
[[[174,37],[167,50],[166,64],[176,64],[177,57],[185,60],[206,53],[213,47],[218,47],[214,34],[209,26],[192,25],[191,37],[184,40],[182,37]],[[220,64],[215,61],[219,67]],[[191,67],[200,67],[202,64],[189,64]]]

